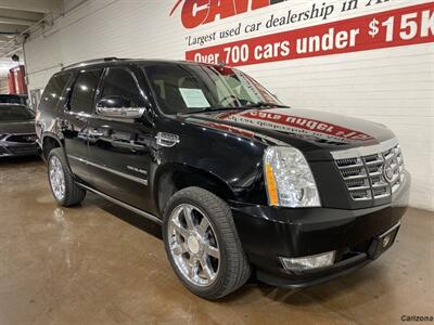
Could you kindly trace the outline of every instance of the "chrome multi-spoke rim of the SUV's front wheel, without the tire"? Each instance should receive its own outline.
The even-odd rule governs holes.
[[[208,217],[182,204],[168,220],[169,251],[183,277],[196,286],[209,286],[220,269],[220,250]]]

